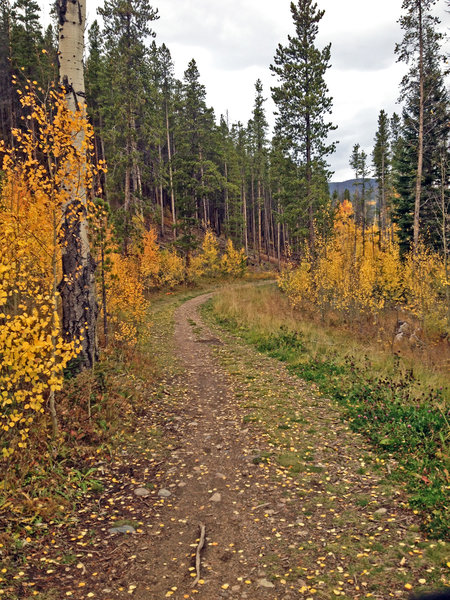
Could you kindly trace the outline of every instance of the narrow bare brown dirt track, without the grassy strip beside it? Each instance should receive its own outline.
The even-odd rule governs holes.
[[[178,382],[184,395],[177,416],[182,446],[166,465],[164,487],[173,495],[162,510],[172,516],[145,557],[151,593],[143,590],[137,597],[156,600],[173,592],[173,598],[279,598],[274,588],[261,587],[273,585],[259,566],[272,526],[256,515],[269,506],[282,511],[284,499],[278,488],[267,489],[266,475],[259,476],[253,462],[259,449],[248,437],[232,381],[211,353],[210,347],[221,342],[203,324],[199,327],[197,308],[207,298],[194,298],[175,314],[176,352],[186,368]],[[200,523],[207,537],[201,583],[193,594],[189,567]]]

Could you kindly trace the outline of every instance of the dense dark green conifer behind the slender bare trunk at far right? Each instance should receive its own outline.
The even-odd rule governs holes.
[[[405,106],[400,134],[393,142],[393,180],[397,192],[394,220],[399,226],[403,253],[408,252],[411,245],[416,248],[417,226],[420,227],[421,238],[428,245],[438,248],[441,237],[441,227],[436,222],[434,208],[436,190],[441,181],[441,152],[438,149],[447,144],[449,97],[443,79],[443,58],[439,51],[439,41],[440,34],[427,26],[423,41],[422,75],[419,67],[413,65],[410,79],[404,82]],[[418,204],[419,160],[421,178]]]

